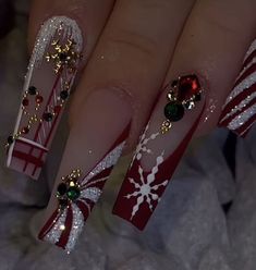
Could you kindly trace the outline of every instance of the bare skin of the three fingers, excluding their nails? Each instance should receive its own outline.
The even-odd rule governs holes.
[[[35,0],[31,50],[41,23],[52,15],[75,17],[86,35],[86,60],[70,108],[70,138],[56,185],[69,172],[72,149],[87,148],[82,139],[88,128],[85,105],[98,88],[113,87],[110,97],[117,95],[131,107],[126,152],[134,150],[161,85],[181,73],[196,71],[207,89],[196,136],[214,128],[255,38],[255,10],[254,0]],[[74,162],[83,161],[78,157]],[[53,204],[52,196],[47,212]]]

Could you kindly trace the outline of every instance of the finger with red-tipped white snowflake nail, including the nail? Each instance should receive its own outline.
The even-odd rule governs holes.
[[[254,26],[252,1],[197,1],[166,79],[174,83],[167,83],[150,116],[115,201],[115,214],[145,228],[199,122],[211,118],[217,123]]]

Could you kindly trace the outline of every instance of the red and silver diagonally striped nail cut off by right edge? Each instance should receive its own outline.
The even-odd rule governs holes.
[[[244,137],[256,121],[256,40],[245,54],[242,70],[234,83],[219,120],[219,126],[228,127]]]

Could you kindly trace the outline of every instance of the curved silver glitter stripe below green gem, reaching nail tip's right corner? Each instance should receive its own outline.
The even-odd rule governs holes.
[[[74,249],[77,238],[81,235],[84,228],[84,216],[75,204],[72,204],[72,211],[73,211],[72,229],[70,232],[69,241],[65,246],[65,250],[68,253]]]

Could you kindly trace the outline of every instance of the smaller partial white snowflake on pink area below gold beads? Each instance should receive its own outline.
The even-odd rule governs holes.
[[[139,138],[139,143],[138,143],[137,148],[135,150],[135,154],[133,156],[133,160],[132,160],[131,167],[133,165],[135,159],[136,160],[141,160],[142,159],[143,152],[147,152],[147,154],[151,154],[153,152],[151,149],[149,149],[147,147],[147,144],[150,140],[156,139],[157,136],[159,135],[159,132],[158,133],[154,133],[149,137],[146,138],[146,133],[147,133],[148,128],[149,128],[149,124],[147,124],[147,126],[146,126],[143,135]]]

